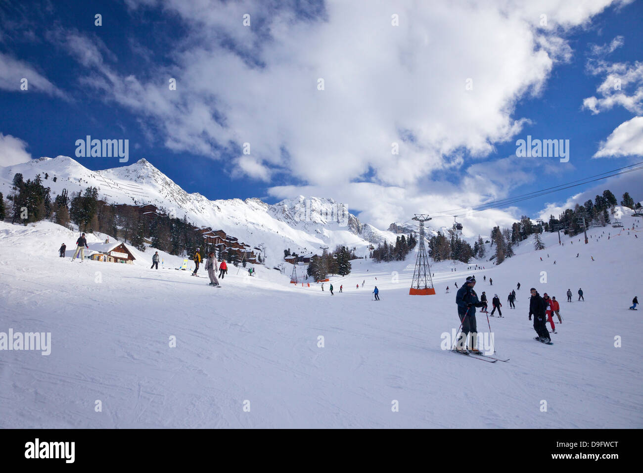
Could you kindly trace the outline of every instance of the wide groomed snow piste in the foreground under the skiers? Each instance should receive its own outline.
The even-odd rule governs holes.
[[[75,241],[69,230],[0,223],[0,332],[51,332],[50,355],[0,351],[0,427],[640,429],[643,321],[628,306],[641,295],[643,232],[641,219],[623,221],[637,227],[592,228],[588,245],[546,234],[545,250],[526,241],[498,266],[480,261],[485,270],[435,264],[433,296],[408,295],[411,259],[353,261],[352,274],[331,279],[334,295],[267,268],[230,268],[211,288],[150,270],[149,250],[135,264],[71,263],[57,256]],[[478,294],[503,302],[504,318],[477,321],[507,363],[442,349],[459,324],[454,284],[469,274]],[[560,301],[552,346],[533,340],[531,286]]]

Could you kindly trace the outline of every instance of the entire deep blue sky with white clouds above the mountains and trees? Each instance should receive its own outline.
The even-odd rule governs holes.
[[[210,199],[335,198],[386,228],[642,160],[642,2],[364,5],[3,3],[0,165],[75,158],[87,134],[122,138],[129,163],[77,160],[146,158]],[[570,140],[570,161],[518,158],[527,135]],[[598,187],[643,199],[640,177]],[[594,188],[473,214],[467,228],[556,212]]]

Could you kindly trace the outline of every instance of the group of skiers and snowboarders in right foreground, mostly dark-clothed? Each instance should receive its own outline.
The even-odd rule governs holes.
[[[480,299],[478,299],[478,295],[474,290],[475,285],[475,276],[467,277],[466,282],[458,289],[457,295],[455,296],[455,302],[458,306],[458,317],[462,328],[462,332],[456,342],[456,350],[481,354],[482,352],[476,348],[478,335],[476,328],[476,308],[481,308],[482,312],[487,313],[487,295],[483,291]],[[518,283],[517,287],[520,289],[520,283]],[[530,293],[529,320],[532,319],[532,316],[534,317],[534,330],[537,334],[535,339],[539,342],[551,344],[550,332],[546,326],[547,322],[551,324],[553,333],[557,333],[553,316],[556,315],[559,323],[563,323],[558,301],[556,301],[556,297],[549,297],[547,293],[544,293],[541,297],[536,288],[531,288]],[[571,292],[568,291],[568,297],[570,297],[570,294]],[[583,297],[583,291],[581,289],[579,289],[579,297]],[[516,301],[516,292],[514,290],[509,293],[507,301],[509,301],[511,308],[515,308],[514,301]],[[502,317],[502,311],[500,311],[502,304],[500,303],[498,294],[494,294],[491,304],[493,305],[493,310],[489,315],[493,317],[495,311],[498,310],[498,317]]]

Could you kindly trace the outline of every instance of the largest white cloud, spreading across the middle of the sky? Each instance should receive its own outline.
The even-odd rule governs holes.
[[[467,166],[521,131],[516,102],[538,95],[556,62],[570,59],[566,32],[611,3],[336,1],[310,19],[289,3],[127,0],[185,23],[173,64],[135,77],[115,73],[99,46],[78,58],[98,66],[82,83],[145,116],[168,148],[216,159],[248,142],[253,154],[233,160],[233,175],[269,181],[287,169],[304,184],[271,195],[332,196],[388,227],[414,212],[479,204],[483,194],[507,196],[512,187],[486,171],[492,165],[505,182],[534,180],[519,158]],[[454,169],[456,182],[442,182]],[[508,222],[511,212],[493,215]],[[482,214],[475,219],[470,227],[488,231]]]

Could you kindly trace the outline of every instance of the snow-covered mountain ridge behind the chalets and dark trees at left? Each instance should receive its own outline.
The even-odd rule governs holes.
[[[71,194],[93,186],[100,198],[109,202],[150,203],[178,218],[185,215],[195,225],[222,229],[248,245],[263,243],[268,264],[282,261],[285,248],[302,254],[320,252],[323,245],[331,249],[346,245],[358,248],[358,254],[366,254],[371,243],[386,238],[395,241],[391,232],[362,224],[343,204],[332,199],[300,196],[275,205],[254,198],[211,201],[198,193],[188,194],[144,159],[104,171],[90,171],[67,156],[0,167],[0,192],[5,196],[12,192],[11,183],[17,172],[23,174],[24,180],[40,174],[43,184],[51,188],[52,200],[62,189]]]

